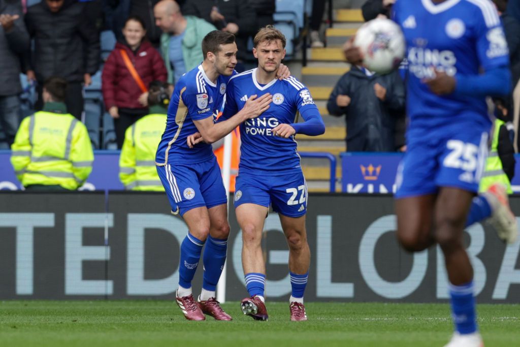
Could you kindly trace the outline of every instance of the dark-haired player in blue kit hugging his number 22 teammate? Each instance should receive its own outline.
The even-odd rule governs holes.
[[[155,164],[172,213],[180,213],[189,229],[180,246],[177,304],[189,320],[204,320],[204,314],[217,320],[230,320],[215,300],[229,235],[226,191],[211,145],[199,143],[189,148],[186,138],[198,131],[207,142],[214,142],[269,108],[271,95],[248,97],[237,114],[214,124],[227,83],[236,74],[235,36],[212,31],[202,41],[202,52],[201,65],[184,74],[175,85]],[[282,76],[290,75],[287,67],[283,73]],[[191,281],[204,243],[202,292],[196,302]]]

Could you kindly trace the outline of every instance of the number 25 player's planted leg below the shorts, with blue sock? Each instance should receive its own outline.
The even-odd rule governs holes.
[[[454,339],[463,336],[463,339],[477,342],[468,345],[479,345],[473,268],[463,245],[464,224],[472,199],[470,191],[441,188],[435,207],[435,239],[443,251],[450,282],[451,310],[456,329]]]

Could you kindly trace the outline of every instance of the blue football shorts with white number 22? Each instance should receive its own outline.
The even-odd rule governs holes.
[[[243,203],[269,207],[288,217],[300,217],[307,212],[307,183],[303,172],[281,176],[260,176],[249,173],[237,176],[235,208]]]

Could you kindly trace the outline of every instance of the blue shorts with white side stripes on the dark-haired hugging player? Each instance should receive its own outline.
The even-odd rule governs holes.
[[[196,164],[167,164],[157,166],[172,213],[184,215],[191,209],[211,209],[227,203],[226,189],[217,159]]]

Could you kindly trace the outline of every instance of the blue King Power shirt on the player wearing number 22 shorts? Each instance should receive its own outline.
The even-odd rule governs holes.
[[[318,108],[309,90],[293,76],[261,85],[256,80],[256,70],[233,76],[228,83],[223,118],[228,119],[241,110],[251,95],[272,95],[267,111],[259,117],[240,124],[239,173],[256,175],[284,175],[300,171],[300,156],[296,151],[294,135],[289,138],[274,136],[272,128],[278,124],[297,122],[296,111]]]

